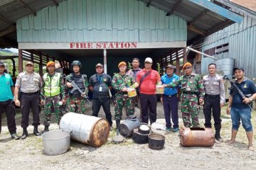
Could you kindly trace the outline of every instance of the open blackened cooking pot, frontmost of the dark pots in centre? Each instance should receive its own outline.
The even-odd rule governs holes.
[[[151,149],[163,149],[164,148],[165,137],[164,135],[149,134],[149,148]]]

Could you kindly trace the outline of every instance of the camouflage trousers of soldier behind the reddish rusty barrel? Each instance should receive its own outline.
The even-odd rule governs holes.
[[[199,126],[199,122],[198,122],[199,108],[198,108],[197,100],[182,101],[181,112],[182,112],[183,124],[186,128]]]

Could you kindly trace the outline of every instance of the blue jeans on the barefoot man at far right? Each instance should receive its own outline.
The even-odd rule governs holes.
[[[231,120],[232,129],[238,130],[240,126],[240,120],[242,120],[242,127],[246,132],[252,131],[251,123],[251,110],[250,108],[231,108]]]

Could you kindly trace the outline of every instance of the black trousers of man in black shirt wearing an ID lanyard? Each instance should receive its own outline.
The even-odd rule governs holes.
[[[92,115],[98,117],[100,112],[100,106],[102,106],[103,111],[105,112],[106,119],[112,126],[112,115],[110,112],[110,98],[102,98],[102,99],[93,99],[92,101]]]

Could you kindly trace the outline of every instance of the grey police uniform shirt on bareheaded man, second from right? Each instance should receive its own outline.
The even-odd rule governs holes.
[[[205,88],[206,94],[220,95],[220,103],[225,103],[224,81],[219,74],[215,74],[213,77],[210,77],[209,74],[204,76],[203,86]]]

